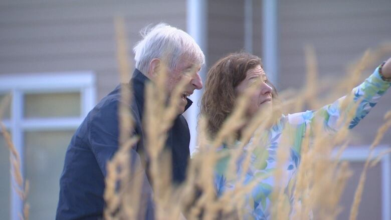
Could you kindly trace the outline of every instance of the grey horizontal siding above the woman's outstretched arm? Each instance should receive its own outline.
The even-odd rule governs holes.
[[[348,62],[391,37],[389,1],[281,1],[279,5],[280,77],[304,76],[306,44],[314,46],[321,74],[344,72]],[[293,70],[293,71],[292,71]],[[302,85],[281,81],[280,88]]]

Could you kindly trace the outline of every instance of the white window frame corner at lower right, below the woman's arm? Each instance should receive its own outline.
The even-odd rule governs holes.
[[[389,149],[388,145],[379,145],[374,148],[372,158],[377,158],[381,152]],[[337,149],[333,152],[337,153]],[[350,146],[345,149],[340,160],[349,162],[365,162],[369,155],[369,146]],[[391,219],[391,159],[389,153],[383,155],[380,160],[381,167],[381,219]],[[349,207],[350,208],[350,207]]]

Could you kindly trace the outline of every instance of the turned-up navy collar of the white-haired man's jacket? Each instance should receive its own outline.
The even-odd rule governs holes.
[[[137,100],[137,102],[141,106],[141,111],[143,112],[144,109],[144,92],[145,92],[145,83],[149,82],[150,80],[139,70],[134,69],[133,76],[130,79],[130,83],[133,86],[134,96]],[[190,99],[186,98],[187,104],[184,107],[184,111],[186,111],[191,104],[193,103]]]

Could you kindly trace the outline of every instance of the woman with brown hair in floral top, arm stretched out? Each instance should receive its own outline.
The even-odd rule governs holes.
[[[246,109],[247,123],[260,109],[273,111],[272,104],[277,97],[276,90],[263,71],[261,59],[246,53],[230,54],[219,60],[210,69],[202,97],[201,114],[208,118],[208,129],[212,136],[217,134],[224,120],[233,111],[236,99],[255,82],[258,83],[257,89],[252,93],[253,95],[250,97]],[[353,89],[354,100],[362,99],[362,101],[358,105],[349,128],[354,127],[369,112],[390,85],[391,58],[376,68],[365,82]],[[335,132],[337,130],[337,119],[344,114],[344,112],[340,111],[340,104],[343,99],[344,97],[317,111],[306,111],[288,116],[282,115],[269,129],[266,129],[265,134],[263,134],[265,137],[262,142],[263,146],[257,147],[252,152],[250,167],[248,170],[246,169],[246,181],[260,175],[265,176],[265,178],[259,184],[256,184],[252,189],[252,193],[248,195],[243,207],[245,218],[270,218],[270,197],[273,186],[275,186],[270,172],[277,167],[276,151],[281,142],[283,129],[289,128],[289,132],[284,134],[293,137],[290,138],[293,141],[289,143],[289,161],[286,167],[284,166],[288,178],[283,183],[279,182],[279,185],[282,184],[282,187],[286,188],[299,165],[301,142],[305,136],[306,127],[314,121],[313,119],[320,118],[323,120],[325,130]],[[239,130],[239,135],[241,135],[242,130]],[[250,139],[248,145],[250,143],[252,143],[252,139]],[[223,147],[223,150],[224,148],[226,147]],[[218,163],[217,167],[221,168],[222,165]],[[241,171],[242,169],[239,165],[237,172],[240,173]],[[235,187],[235,182],[227,180],[226,174],[225,171],[217,168],[215,186],[218,196]]]

